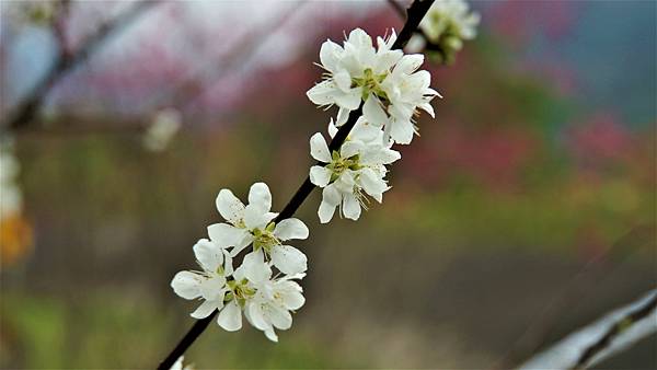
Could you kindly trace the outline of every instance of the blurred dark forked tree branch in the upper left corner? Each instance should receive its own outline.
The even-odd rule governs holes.
[[[59,42],[56,60],[46,76],[36,83],[23,102],[16,106],[14,114],[10,116],[3,127],[10,130],[21,130],[30,126],[38,114],[46,96],[57,82],[67,77],[77,66],[89,59],[110,36],[139,19],[141,14],[158,3],[160,3],[160,0],[137,2],[122,14],[101,24],[95,33],[89,36],[77,50],[70,50],[66,43],[62,24],[65,21],[64,18],[68,16],[69,1],[62,1],[62,10],[58,13],[58,19],[54,23],[54,33]]]

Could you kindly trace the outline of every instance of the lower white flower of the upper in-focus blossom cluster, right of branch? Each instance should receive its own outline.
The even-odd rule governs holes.
[[[335,128],[330,125],[328,131],[334,135]],[[365,194],[382,201],[383,193],[390,188],[383,180],[388,172],[385,164],[401,158],[397,151],[390,149],[390,142],[383,142],[381,129],[362,117],[339,151],[331,153],[320,132],[310,138],[312,158],[326,163],[310,169],[310,181],[324,188],[318,210],[322,223],[331,221],[336,207],[344,217],[357,220],[361,207],[366,208]]]

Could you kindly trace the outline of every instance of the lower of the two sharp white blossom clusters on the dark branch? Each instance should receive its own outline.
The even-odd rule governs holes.
[[[180,271],[171,287],[187,300],[203,300],[192,317],[205,319],[219,310],[217,323],[229,332],[242,327],[242,313],[267,338],[277,342],[275,328],[288,329],[292,324],[291,311],[304,303],[302,289],[293,280],[306,276],[306,255],[283,242],[307,239],[308,228],[295,218],[275,222],[272,194],[264,183],[256,183],[249,192],[249,205],[231,190],[221,189],[217,209],[227,222],[208,227],[209,239],[194,245],[199,271]],[[233,257],[246,246],[252,251],[233,269]],[[276,267],[283,275],[274,275]]]

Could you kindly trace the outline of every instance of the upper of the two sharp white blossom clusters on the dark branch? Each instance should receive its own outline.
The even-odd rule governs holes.
[[[424,56],[393,50],[395,39],[393,31],[388,39],[379,37],[374,48],[371,37],[357,28],[343,46],[326,41],[320,50],[325,78],[308,91],[308,97],[320,106],[339,107],[330,136],[362,104],[362,116],[338,150],[331,152],[320,132],[310,139],[310,153],[320,162],[310,169],[310,181],[323,188],[318,211],[322,223],[331,221],[336,208],[357,220],[367,196],[381,203],[390,188],[385,165],[401,158],[392,144],[411,143],[418,130],[414,120],[418,109],[434,117],[429,103],[439,94],[429,88],[429,72],[418,70]]]

